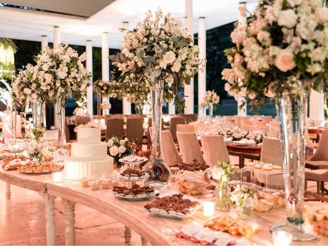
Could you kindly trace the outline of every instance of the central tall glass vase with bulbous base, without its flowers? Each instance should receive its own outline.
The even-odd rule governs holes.
[[[162,120],[162,94],[163,80],[157,80],[151,87],[152,99],[152,154],[149,162],[142,171],[149,174],[146,185],[152,187],[166,186],[170,180],[171,172],[161,156],[161,120]]]

